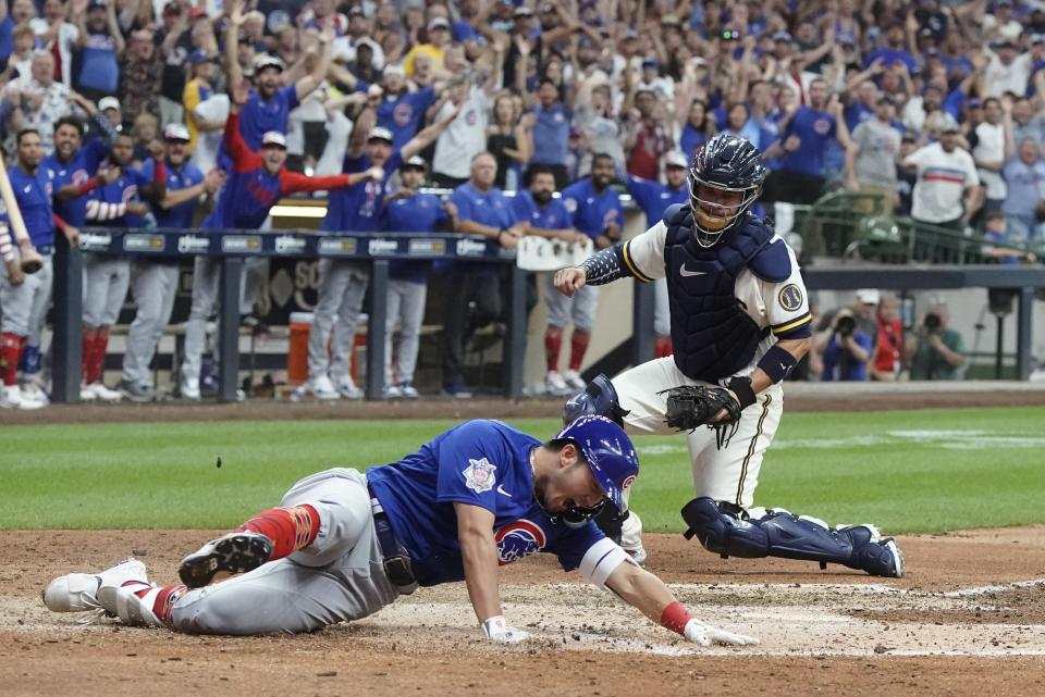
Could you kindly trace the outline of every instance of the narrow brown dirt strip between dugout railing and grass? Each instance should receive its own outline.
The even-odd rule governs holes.
[[[787,410],[881,411],[959,407],[1045,406],[1045,384],[1036,383],[797,383],[786,389]],[[251,399],[238,403],[168,401],[149,404],[52,404],[42,411],[3,411],[0,424],[137,421],[247,421],[308,419],[557,419],[561,399],[290,402]]]

